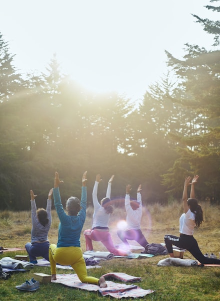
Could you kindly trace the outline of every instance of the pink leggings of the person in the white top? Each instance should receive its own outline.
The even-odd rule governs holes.
[[[126,251],[119,250],[114,247],[111,239],[111,235],[108,231],[88,229],[84,231],[84,236],[85,236],[86,251],[93,250],[92,240],[94,240],[94,241],[100,241],[110,253],[116,256],[127,256]]]

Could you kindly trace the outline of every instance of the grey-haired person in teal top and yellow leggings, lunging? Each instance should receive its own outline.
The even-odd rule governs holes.
[[[62,265],[71,265],[81,282],[97,284],[106,287],[104,277],[95,278],[87,275],[85,261],[80,248],[80,233],[86,215],[86,173],[82,176],[81,201],[76,197],[70,197],[66,201],[65,213],[59,195],[59,175],[55,173],[53,198],[56,213],[59,218],[57,245],[49,246],[49,261],[51,279],[56,280],[56,262]]]

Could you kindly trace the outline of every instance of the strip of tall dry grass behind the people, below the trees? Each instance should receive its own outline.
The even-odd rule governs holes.
[[[220,207],[211,206],[209,203],[202,203],[204,214],[204,223],[199,229],[195,229],[194,236],[198,241],[201,251],[215,252],[218,254],[220,247],[218,238],[220,234]],[[141,229],[149,243],[163,242],[165,234],[178,235],[179,216],[182,213],[181,202],[161,206],[153,204],[143,208],[143,216],[141,221]],[[92,223],[93,208],[88,207],[86,212],[86,220],[81,234],[81,248],[85,250],[85,241],[83,231],[89,229]],[[121,241],[116,235],[117,223],[121,219],[125,219],[124,208],[116,208],[114,214],[111,215],[109,220],[109,228],[115,244]],[[52,210],[52,224],[49,230],[48,238],[51,243],[57,241],[57,227],[58,217],[56,212]],[[27,241],[30,241],[31,230],[31,215],[28,211],[21,212],[0,212],[0,245],[5,248],[20,247],[23,248]],[[99,242],[94,242],[94,249],[105,250],[103,245]]]

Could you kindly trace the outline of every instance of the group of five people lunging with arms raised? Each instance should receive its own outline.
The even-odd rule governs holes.
[[[59,180],[59,175],[55,172],[54,188],[48,193],[46,210],[43,208],[36,210],[35,197],[30,190],[31,203],[31,242],[26,243],[25,248],[32,263],[37,263],[36,257],[43,257],[50,262],[51,279],[56,280],[56,263],[71,265],[81,282],[97,284],[106,287],[104,277],[99,279],[88,276],[82,250],[80,247],[80,234],[86,217],[86,174],[82,176],[81,200],[76,197],[69,197],[66,201],[66,208],[63,209],[59,195],[59,185],[63,181]],[[108,181],[106,197],[100,203],[97,199],[98,184],[101,181],[100,175],[96,175],[92,191],[92,201],[94,207],[93,222],[91,229],[84,231],[86,250],[93,250],[92,240],[100,241],[105,248],[119,256],[132,256],[127,240],[134,240],[142,247],[146,247],[148,242],[144,237],[140,221],[142,217],[141,185],[137,188],[136,200],[130,200],[130,185],[125,188],[125,210],[126,228],[118,230],[117,235],[123,242],[125,248],[115,248],[109,233],[108,221],[113,212],[111,195],[111,183],[114,175]],[[164,242],[170,257],[173,257],[172,245],[188,250],[201,264],[220,264],[216,258],[207,258],[200,251],[197,241],[193,237],[195,227],[199,227],[203,221],[201,206],[195,199],[194,185],[198,176],[185,178],[182,194],[184,213],[179,219],[179,236],[165,235]],[[190,198],[187,199],[187,188],[191,185]],[[49,244],[48,231],[51,225],[51,196],[53,195],[54,206],[59,218],[57,244]]]

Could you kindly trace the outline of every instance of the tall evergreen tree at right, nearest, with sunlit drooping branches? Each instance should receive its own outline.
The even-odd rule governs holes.
[[[210,9],[208,6],[207,8]],[[219,11],[219,8],[215,11]],[[208,24],[204,29],[208,33],[215,33],[217,45],[219,32],[216,25],[219,24],[207,19],[199,22]],[[177,176],[179,170],[183,173],[182,177],[198,174],[199,197],[208,197],[212,202],[219,202],[220,51],[207,51],[197,45],[188,44],[185,51],[183,60],[176,59],[166,52],[168,66],[175,71],[180,81],[179,87],[184,92],[184,97],[173,98],[172,101],[181,103],[184,109],[190,109],[195,114],[191,120],[186,119],[184,126],[188,129],[187,134],[184,131],[181,135],[175,135],[175,140],[180,146],[177,149],[179,159],[169,173],[163,176],[163,184],[169,187],[169,191],[173,191],[175,188],[172,186],[172,178]]]

